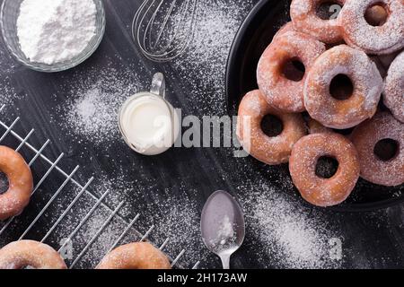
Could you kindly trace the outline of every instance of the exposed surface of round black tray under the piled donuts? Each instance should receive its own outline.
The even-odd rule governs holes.
[[[258,88],[256,69],[259,57],[277,30],[290,21],[291,1],[262,0],[251,10],[233,41],[226,71],[227,109],[237,115],[242,96]],[[257,166],[260,163],[257,161]],[[269,179],[268,179],[269,181]],[[291,188],[292,189],[292,188]],[[297,193],[297,190],[287,190]],[[360,178],[347,201],[329,209],[338,212],[369,212],[404,203],[404,185],[382,187]]]

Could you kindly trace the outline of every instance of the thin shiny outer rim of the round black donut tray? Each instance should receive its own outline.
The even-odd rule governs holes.
[[[231,92],[235,88],[233,87],[233,80],[235,75],[238,73],[236,68],[238,68],[241,64],[240,57],[238,57],[241,53],[242,45],[246,44],[245,42],[245,33],[246,31],[250,30],[251,23],[256,20],[256,16],[258,13],[262,12],[262,9],[269,3],[273,2],[274,0],[260,0],[259,3],[255,4],[254,7],[251,9],[250,13],[242,22],[239,30],[233,39],[232,46],[230,48],[229,55],[227,57],[226,63],[226,74],[225,74],[225,98],[226,98],[226,106],[227,106],[227,113],[230,116],[233,116],[233,107],[230,105],[230,99],[232,97]],[[321,208],[318,206],[311,205],[312,208],[318,208],[322,210],[329,210],[335,211],[339,213],[367,213],[367,212],[375,212],[378,210],[386,209],[392,206],[396,206],[399,204],[404,203],[404,195],[401,195],[397,198],[389,198],[380,201],[376,201],[373,203],[362,203],[362,204],[339,204],[335,206],[330,206],[327,208]]]

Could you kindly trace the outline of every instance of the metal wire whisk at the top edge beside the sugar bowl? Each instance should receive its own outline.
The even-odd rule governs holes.
[[[132,37],[145,57],[167,62],[180,57],[191,42],[199,0],[145,0],[132,22]]]

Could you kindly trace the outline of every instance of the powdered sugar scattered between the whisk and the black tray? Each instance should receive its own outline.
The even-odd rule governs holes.
[[[202,114],[224,114],[224,74],[233,39],[251,0],[206,1],[199,4],[195,35],[186,54],[172,62],[189,91],[184,105]],[[209,92],[206,92],[209,91]]]

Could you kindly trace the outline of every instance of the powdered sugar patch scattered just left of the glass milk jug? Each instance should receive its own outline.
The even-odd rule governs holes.
[[[88,73],[88,72],[87,72]],[[119,138],[118,114],[121,105],[141,84],[129,68],[117,70],[109,65],[89,74],[77,73],[68,81],[66,100],[57,107],[57,114],[65,117],[66,131],[78,140],[95,144],[109,143]]]

